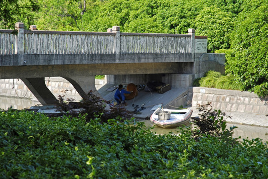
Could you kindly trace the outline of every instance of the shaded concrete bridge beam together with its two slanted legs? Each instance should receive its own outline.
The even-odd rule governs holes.
[[[56,104],[57,99],[47,89],[45,77],[63,77],[85,98],[89,90],[95,90],[96,75],[138,75],[138,74],[192,74],[193,63],[125,63],[125,64],[76,64],[1,66],[0,79],[20,77],[43,105]]]

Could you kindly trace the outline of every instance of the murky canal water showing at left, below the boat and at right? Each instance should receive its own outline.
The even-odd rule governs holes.
[[[36,100],[29,100],[25,98],[9,98],[9,97],[2,97],[0,96],[0,109],[7,110],[10,106],[14,109],[24,109],[29,108],[34,105],[40,105],[39,101]],[[153,123],[150,120],[143,120],[145,126],[152,127],[154,126]],[[227,124],[227,129],[230,129],[230,126],[237,126],[238,128],[234,129],[233,137],[238,138],[241,136],[241,138],[246,139],[255,139],[260,138],[263,139],[263,141],[268,141],[268,128],[265,127],[257,127],[257,126],[249,126],[249,125],[239,125],[239,124]],[[191,126],[190,126],[191,127]],[[174,134],[178,134],[178,129],[163,129],[161,127],[154,126],[153,129],[151,129],[152,132],[155,132],[156,134],[168,134],[170,132]]]

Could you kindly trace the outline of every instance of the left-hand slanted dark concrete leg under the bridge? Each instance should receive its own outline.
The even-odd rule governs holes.
[[[57,98],[46,87],[45,78],[24,78],[21,80],[42,105],[59,103]]]

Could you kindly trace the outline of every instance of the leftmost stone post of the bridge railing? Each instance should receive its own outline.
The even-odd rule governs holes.
[[[21,22],[15,23],[15,29],[18,31],[16,35],[15,54],[24,54],[24,25]]]

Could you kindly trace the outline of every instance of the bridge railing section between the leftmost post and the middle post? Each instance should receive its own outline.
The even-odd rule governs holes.
[[[24,31],[25,54],[111,54],[114,33]]]

